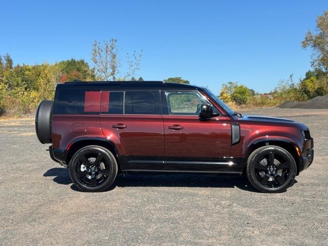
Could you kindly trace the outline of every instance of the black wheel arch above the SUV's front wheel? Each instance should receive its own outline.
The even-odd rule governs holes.
[[[267,145],[279,146],[279,147],[285,149],[286,151],[288,151],[293,156],[293,158],[296,162],[296,167],[297,167],[296,175],[299,174],[300,158],[296,151],[296,148],[299,148],[299,147],[295,144],[295,142],[288,140],[288,139],[284,139],[284,138],[258,139],[256,141],[252,142],[252,144],[250,145],[250,147],[248,148],[248,150],[246,152],[245,157],[248,158],[254,150],[256,150],[260,147],[263,147],[263,146],[267,146]]]

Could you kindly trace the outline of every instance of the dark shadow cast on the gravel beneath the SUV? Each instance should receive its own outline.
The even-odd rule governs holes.
[[[52,168],[44,173],[45,177],[54,177],[53,181],[60,185],[71,185],[74,191],[80,191],[73,184],[67,169]],[[297,182],[295,180],[295,182]],[[166,174],[166,175],[123,175],[118,174],[113,185],[106,191],[116,187],[199,187],[199,188],[238,188],[250,192],[258,192],[245,176],[222,176],[213,174]]]

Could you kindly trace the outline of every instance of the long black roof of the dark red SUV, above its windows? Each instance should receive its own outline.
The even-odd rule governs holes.
[[[198,89],[199,87],[163,81],[72,81],[58,84],[60,88],[101,88],[101,89]]]

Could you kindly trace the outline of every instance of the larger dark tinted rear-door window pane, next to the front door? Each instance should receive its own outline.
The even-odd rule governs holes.
[[[161,114],[158,91],[126,91],[125,92],[125,114]],[[156,104],[157,102],[157,104]]]

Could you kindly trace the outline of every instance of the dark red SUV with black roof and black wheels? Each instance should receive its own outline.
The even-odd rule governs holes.
[[[313,161],[313,138],[289,119],[242,116],[208,89],[162,81],[69,82],[35,117],[50,157],[87,192],[118,172],[245,173],[281,192]]]

